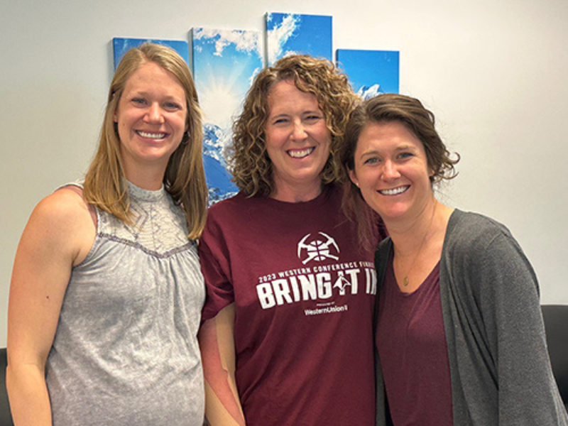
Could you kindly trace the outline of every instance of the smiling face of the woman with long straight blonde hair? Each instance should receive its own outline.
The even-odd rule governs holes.
[[[185,91],[178,79],[147,62],[126,81],[114,122],[126,178],[162,170],[187,130]]]

